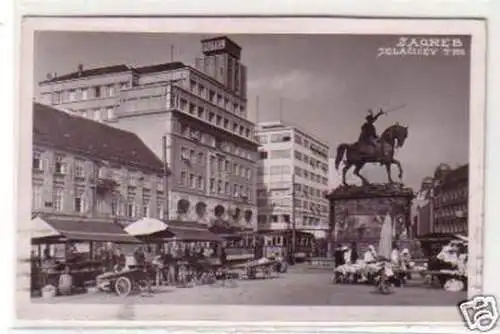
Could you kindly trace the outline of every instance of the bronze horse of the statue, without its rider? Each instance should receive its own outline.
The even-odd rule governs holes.
[[[393,183],[391,176],[391,166],[396,164],[399,169],[399,179],[403,177],[403,169],[401,163],[394,159],[396,148],[402,147],[408,137],[408,127],[395,124],[388,127],[380,136],[379,143],[375,146],[370,146],[366,143],[345,144],[342,143],[337,147],[337,156],[335,158],[335,169],[338,170],[340,162],[344,155],[344,168],[342,169],[342,183],[347,185],[345,176],[347,171],[355,166],[354,175],[358,176],[363,185],[368,185],[368,180],[359,174],[360,170],[366,163],[380,163],[387,170],[387,177],[390,183]]]

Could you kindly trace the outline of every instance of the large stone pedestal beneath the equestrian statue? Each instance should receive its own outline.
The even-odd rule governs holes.
[[[411,188],[402,184],[341,186],[327,198],[330,201],[331,242],[334,247],[356,242],[361,254],[369,244],[377,248],[387,213],[393,219],[393,239],[404,244],[402,239],[411,238],[411,205],[414,198]]]

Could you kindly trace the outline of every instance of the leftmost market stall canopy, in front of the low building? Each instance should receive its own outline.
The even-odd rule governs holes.
[[[47,218],[37,216],[32,220],[33,243],[65,241],[102,241],[115,243],[140,243],[127,234],[121,226],[110,222],[74,218]]]

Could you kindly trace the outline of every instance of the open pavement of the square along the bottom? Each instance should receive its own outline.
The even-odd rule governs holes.
[[[232,284],[233,283],[233,284]],[[390,295],[381,295],[367,285],[335,285],[331,273],[325,271],[290,272],[278,278],[234,281],[227,286],[195,286],[193,288],[161,287],[153,296],[128,296],[127,304],[182,305],[387,305],[387,306],[454,306],[466,298],[466,292],[447,292],[425,287],[412,281],[395,288]],[[70,297],[56,297],[34,303],[123,304],[123,297],[97,292]]]

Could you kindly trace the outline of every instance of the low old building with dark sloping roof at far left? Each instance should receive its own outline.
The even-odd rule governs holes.
[[[162,218],[162,161],[133,133],[33,104],[32,211],[55,218]]]

